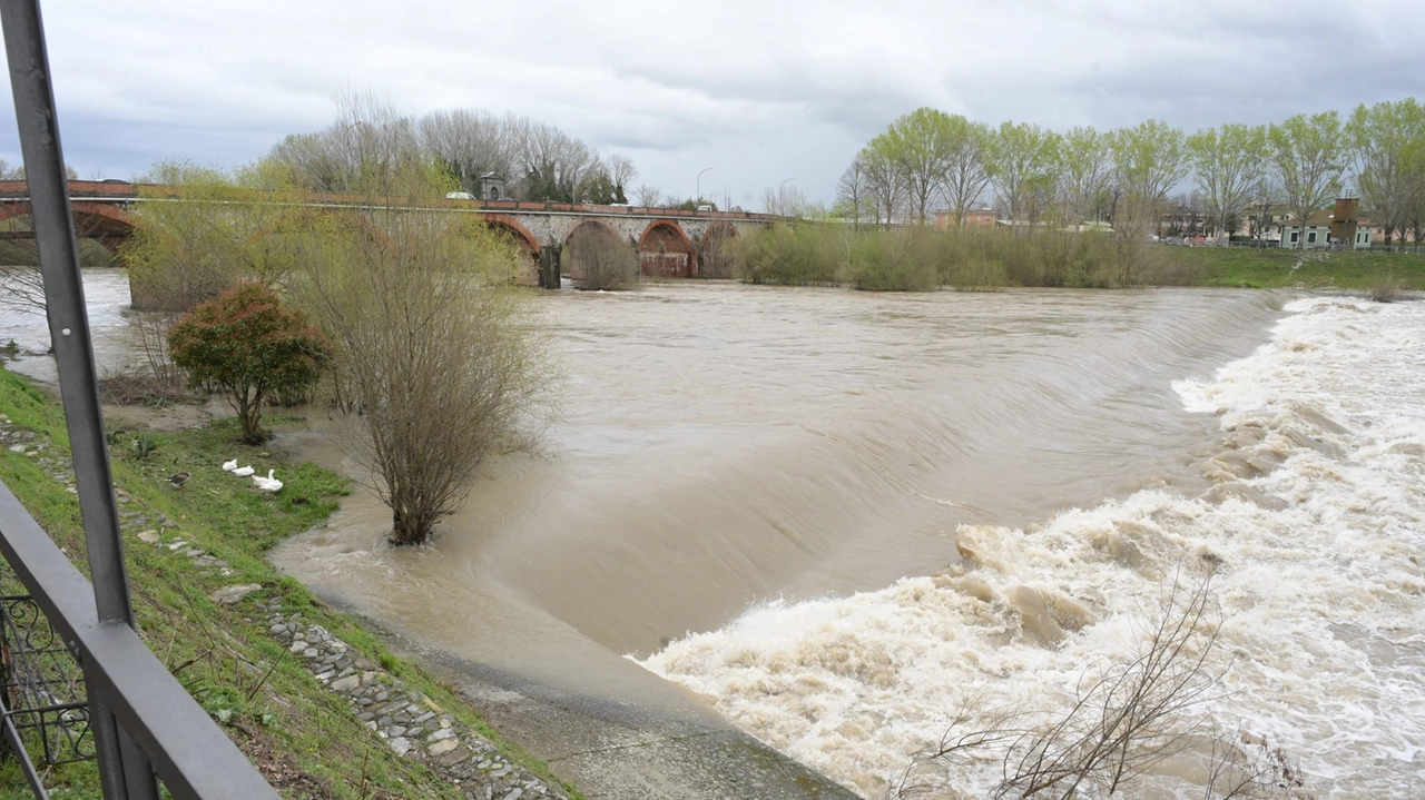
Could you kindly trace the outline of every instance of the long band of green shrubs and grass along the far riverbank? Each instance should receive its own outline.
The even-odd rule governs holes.
[[[1425,255],[1186,248],[1104,233],[775,225],[721,253],[747,283],[866,290],[1237,286],[1425,290]]]

